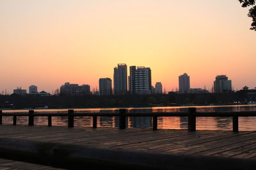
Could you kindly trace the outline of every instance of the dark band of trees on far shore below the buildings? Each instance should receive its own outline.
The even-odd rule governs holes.
[[[250,98],[249,98],[250,97]],[[19,96],[0,95],[0,106],[6,101],[15,108],[115,108],[115,107],[148,107],[148,106],[180,106],[186,104],[234,104],[234,101],[246,103],[255,101],[248,93],[227,92],[220,94],[177,94],[169,92],[159,95],[124,95],[124,96]]]

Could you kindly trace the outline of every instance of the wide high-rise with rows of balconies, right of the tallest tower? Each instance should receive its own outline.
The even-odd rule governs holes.
[[[130,67],[130,92],[132,94],[151,94],[150,67]]]

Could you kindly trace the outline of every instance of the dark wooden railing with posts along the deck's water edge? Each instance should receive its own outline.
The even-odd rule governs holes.
[[[119,117],[119,129],[127,127],[126,117],[152,117],[152,129],[157,130],[158,117],[188,117],[188,131],[196,131],[196,117],[232,117],[233,132],[239,131],[239,117],[256,117],[256,111],[236,112],[196,112],[196,108],[188,108],[188,112],[154,112],[154,113],[127,113],[127,110],[120,109],[119,113],[75,113],[68,110],[67,113],[35,113],[29,110],[28,113],[3,113],[0,110],[0,124],[3,124],[3,116],[13,117],[13,125],[17,124],[17,117],[28,117],[28,125],[34,125],[34,117],[48,117],[48,126],[52,126],[52,117],[68,117],[68,127],[74,127],[74,117],[93,117],[93,128],[97,128],[97,117]]]

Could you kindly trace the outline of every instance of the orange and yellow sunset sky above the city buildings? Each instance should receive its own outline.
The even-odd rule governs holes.
[[[236,0],[1,0],[0,91],[65,82],[99,87],[117,64],[152,70],[152,85],[256,87],[256,32]]]

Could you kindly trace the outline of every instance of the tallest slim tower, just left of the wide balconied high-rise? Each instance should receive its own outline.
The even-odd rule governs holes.
[[[114,93],[115,95],[125,94],[127,92],[127,66],[118,64],[114,68]]]

